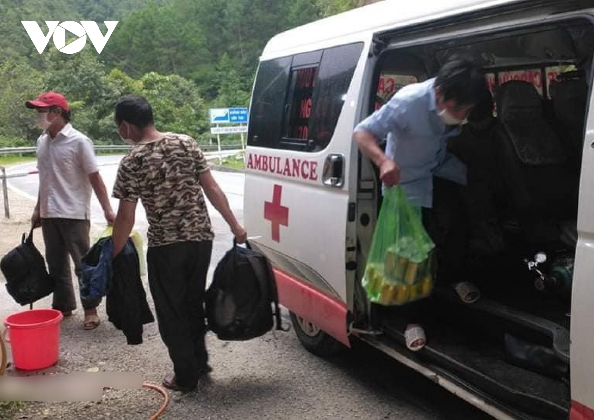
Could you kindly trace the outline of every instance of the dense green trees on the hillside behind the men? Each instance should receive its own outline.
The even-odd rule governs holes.
[[[34,144],[39,130],[24,102],[44,90],[64,93],[72,124],[96,143],[119,143],[115,102],[146,96],[160,130],[211,138],[208,108],[248,106],[258,57],[280,31],[361,0],[0,0],[0,145]],[[98,55],[87,40],[74,55],[52,38],[39,54],[21,20],[118,20]],[[237,136],[223,136],[238,143]],[[20,139],[20,140],[16,140]],[[0,146],[1,147],[1,146]]]

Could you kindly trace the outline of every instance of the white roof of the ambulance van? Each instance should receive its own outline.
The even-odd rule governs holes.
[[[287,55],[287,50],[328,43],[347,35],[377,32],[424,23],[466,12],[525,0],[385,0],[290,29],[272,37],[263,56]]]

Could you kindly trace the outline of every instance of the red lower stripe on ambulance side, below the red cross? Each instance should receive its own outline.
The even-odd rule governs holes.
[[[346,304],[301,282],[280,270],[273,269],[279,302],[299,317],[305,318],[334,339],[350,347],[347,334]]]

